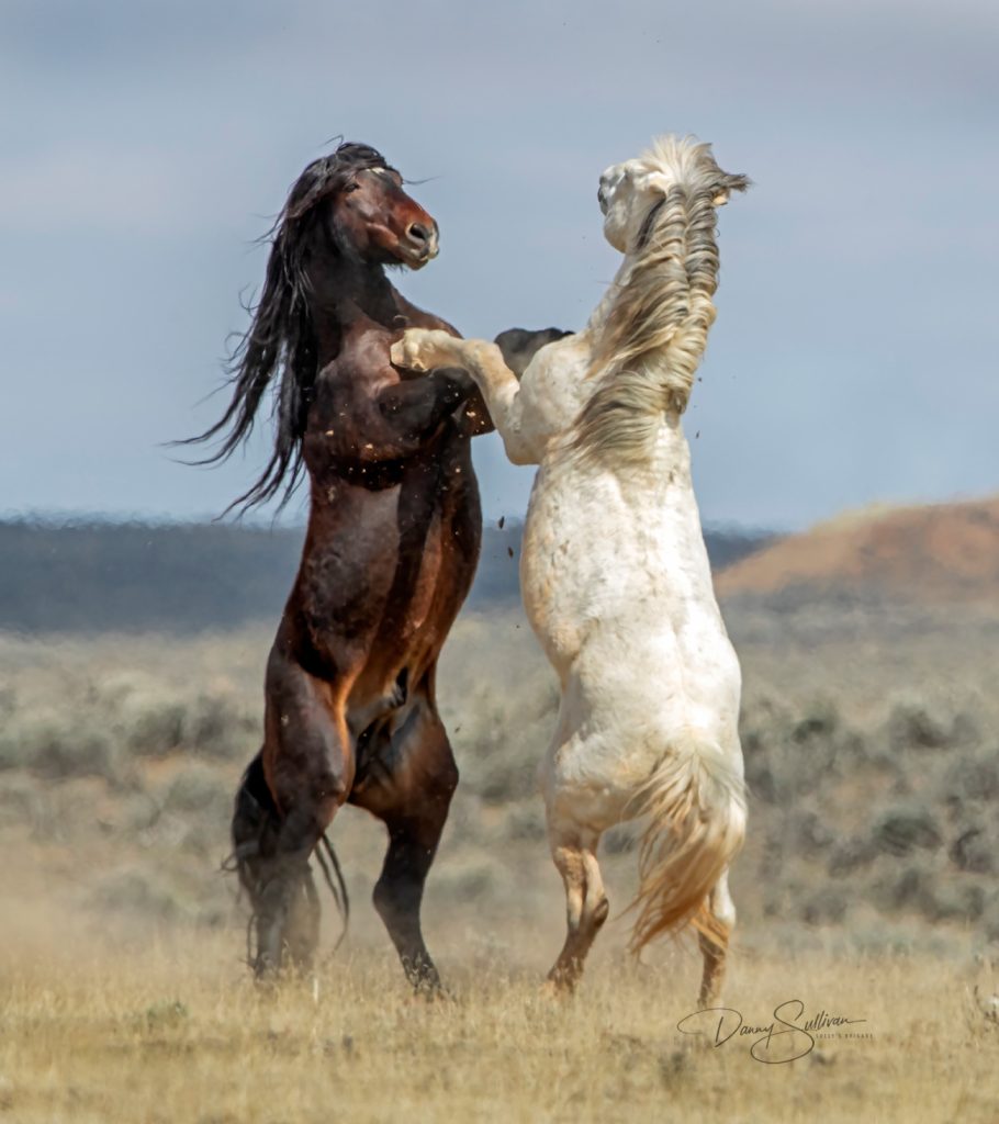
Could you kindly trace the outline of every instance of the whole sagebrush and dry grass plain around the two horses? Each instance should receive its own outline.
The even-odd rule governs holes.
[[[425,917],[455,999],[430,1006],[367,904],[383,832],[353,809],[334,837],[354,923],[318,1000],[262,995],[240,962],[218,864],[265,633],[0,637],[0,1118],[993,1122],[999,1026],[970,989],[999,990],[996,620],[728,618],[754,796],[726,1000],[762,1024],[798,997],[872,1039],[775,1067],[746,1040],[692,1050],[698,958],[635,968],[614,913],[582,992],[542,999],[563,926],[534,791],[555,691],[515,615],[462,620],[442,668],[462,785]],[[615,909],[630,846],[607,841]]]

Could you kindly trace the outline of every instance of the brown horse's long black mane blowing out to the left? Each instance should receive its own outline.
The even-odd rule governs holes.
[[[323,205],[365,167],[394,171],[380,152],[365,144],[345,143],[332,155],[312,161],[296,180],[273,227],[262,239],[271,242],[264,290],[256,306],[247,306],[249,328],[227,365],[233,388],[229,405],[211,428],[181,442],[194,444],[221,436],[217,451],[197,463],[228,460],[253,430],[264,392],[276,375],[274,450],[256,482],[227,511],[246,511],[273,499],[282,488],[283,507],[301,480],[302,438],[318,363],[307,265],[321,239],[335,254],[353,252],[353,246],[339,243],[329,224],[324,223],[327,209]]]

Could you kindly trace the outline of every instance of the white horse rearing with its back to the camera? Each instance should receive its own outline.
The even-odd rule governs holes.
[[[507,455],[539,464],[520,580],[562,683],[541,768],[569,935],[548,978],[571,989],[607,918],[597,845],[647,817],[637,953],[692,923],[701,1003],[718,992],[735,907],[727,871],[745,831],[738,661],[715,600],[681,416],[715,318],[715,208],[748,180],[709,145],[659,138],[600,178],[603,233],[625,257],[576,335],[518,383],[498,347],[411,329],[393,362],[463,366]]]

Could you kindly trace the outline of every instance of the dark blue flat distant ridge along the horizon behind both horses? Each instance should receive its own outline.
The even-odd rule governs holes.
[[[487,525],[467,605],[516,604],[521,525]],[[0,522],[0,629],[170,632],[276,623],[303,528],[239,524]],[[769,541],[709,532],[725,565]]]

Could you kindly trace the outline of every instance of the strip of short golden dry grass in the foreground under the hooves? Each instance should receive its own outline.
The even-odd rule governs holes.
[[[492,964],[448,966],[455,998],[405,994],[387,957],[355,953],[261,994],[227,943],[113,962],[79,952],[0,970],[0,1114],[72,1121],[866,1120],[995,1122],[999,1028],[939,960],[743,958],[728,1003],[747,1024],[790,998],[863,1018],[761,1064],[760,1034],[697,1048],[670,966],[615,966],[570,1001]],[[828,1033],[828,1032],[826,1032]],[[796,1035],[793,1052],[808,1046]]]

